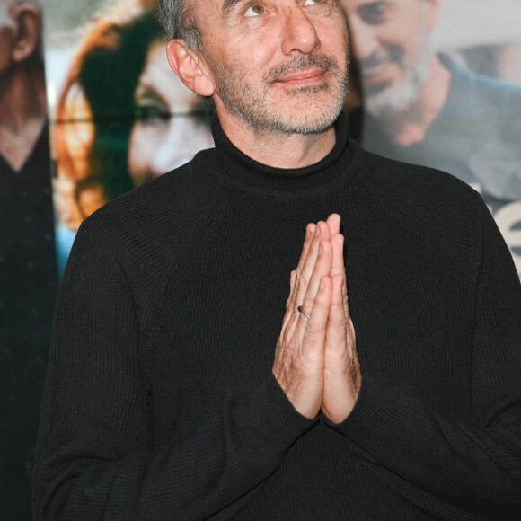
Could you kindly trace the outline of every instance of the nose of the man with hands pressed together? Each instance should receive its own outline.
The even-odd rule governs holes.
[[[284,13],[284,36],[282,52],[309,54],[320,47],[320,39],[313,23],[298,6],[292,6]]]

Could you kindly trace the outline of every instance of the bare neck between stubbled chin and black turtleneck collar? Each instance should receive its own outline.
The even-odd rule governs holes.
[[[217,115],[226,136],[243,154],[259,163],[276,168],[303,168],[318,163],[335,145],[335,129],[317,134],[287,134],[258,131],[227,110],[217,107]]]

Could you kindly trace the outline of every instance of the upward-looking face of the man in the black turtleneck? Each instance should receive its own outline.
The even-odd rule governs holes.
[[[335,0],[205,0],[196,9],[220,117],[239,117],[256,132],[331,126],[348,77],[347,27]]]

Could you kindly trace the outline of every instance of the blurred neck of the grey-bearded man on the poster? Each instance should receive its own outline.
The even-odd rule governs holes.
[[[451,73],[435,56],[432,73],[421,86],[419,97],[405,109],[378,118],[385,134],[402,146],[422,141],[445,106],[450,81]]]

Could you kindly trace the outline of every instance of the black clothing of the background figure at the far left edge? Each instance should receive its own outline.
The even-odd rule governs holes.
[[[20,172],[0,156],[0,517],[31,516],[31,474],[57,294],[47,123]]]

